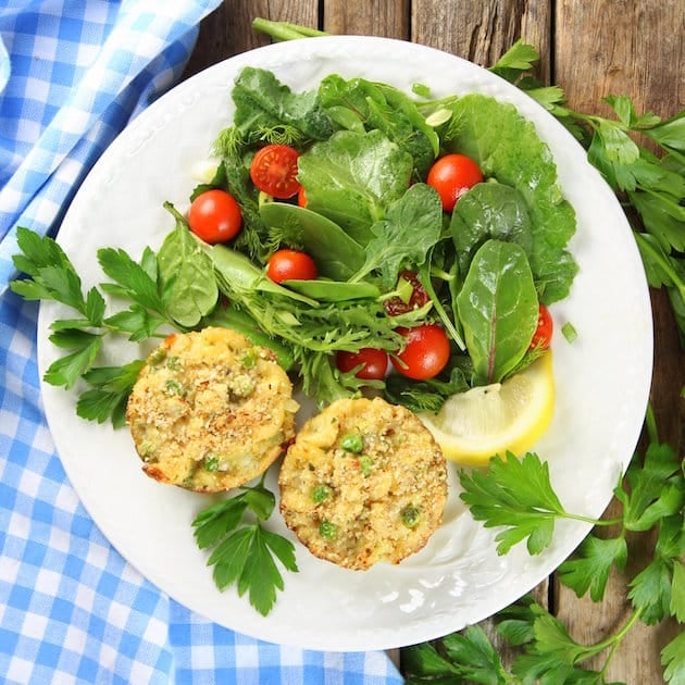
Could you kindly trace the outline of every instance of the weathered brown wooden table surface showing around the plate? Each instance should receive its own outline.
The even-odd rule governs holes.
[[[539,77],[561,85],[576,111],[608,115],[601,99],[610,94],[628,95],[638,112],[662,117],[685,109],[685,0],[224,0],[201,25],[187,74],[267,43],[251,29],[256,16],[332,34],[411,40],[483,66],[523,38],[541,54]],[[651,401],[661,439],[682,454],[685,354],[664,294],[652,292],[652,303]],[[578,642],[589,644],[623,624],[630,613],[625,593],[625,577],[616,574],[605,601],[595,605],[552,576],[536,597]],[[633,628],[607,680],[662,682],[659,651],[675,631],[674,624]]]

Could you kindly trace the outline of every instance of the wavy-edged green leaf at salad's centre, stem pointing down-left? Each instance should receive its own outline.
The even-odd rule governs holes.
[[[386,219],[371,226],[366,262],[352,277],[360,281],[374,270],[391,288],[400,266],[421,266],[443,233],[443,205],[437,191],[423,183],[411,186],[387,209]]]

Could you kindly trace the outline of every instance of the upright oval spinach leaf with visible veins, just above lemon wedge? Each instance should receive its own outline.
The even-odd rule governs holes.
[[[538,301],[521,246],[487,240],[475,253],[457,297],[475,384],[499,383],[525,354]]]

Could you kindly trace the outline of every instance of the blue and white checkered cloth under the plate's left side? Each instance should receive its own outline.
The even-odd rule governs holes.
[[[281,647],[177,605],[110,546],[48,431],[37,306],[7,284],[17,225],[54,233],[78,184],[179,76],[220,0],[4,0],[0,9],[0,680],[401,683],[383,652]]]

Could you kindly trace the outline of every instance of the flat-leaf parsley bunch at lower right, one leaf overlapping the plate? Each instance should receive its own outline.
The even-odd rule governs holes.
[[[685,622],[684,462],[669,445],[659,443],[651,411],[648,412],[647,428],[650,439],[644,457],[635,456],[614,489],[622,507],[621,514],[611,520],[595,520],[568,512],[552,489],[547,464],[536,454],[525,454],[521,460],[512,454],[506,459],[495,457],[486,471],[460,472],[464,489],[461,498],[469,505],[474,519],[483,521],[488,527],[501,528],[496,536],[499,553],[506,553],[523,540],[526,540],[531,553],[541,552],[551,543],[555,522],[561,519],[613,526],[610,535],[600,537],[590,533],[558,569],[560,582],[578,597],[589,593],[593,601],[601,601],[611,569],[624,570],[626,566],[628,533],[649,533],[656,537],[651,560],[628,584],[627,597],[633,605],[633,613],[614,635],[597,645],[580,645],[558,619],[528,601],[523,609],[510,608],[502,612],[500,616],[508,615],[507,611],[519,611],[519,622],[512,623],[509,615],[508,622],[499,627],[502,633],[502,626],[507,626],[503,636],[513,645],[523,646],[525,653],[514,661],[512,673],[503,678],[500,677],[500,668],[494,668],[493,660],[488,660],[491,677],[478,682],[524,683],[533,682],[526,680],[533,677],[551,678],[548,682],[603,683],[611,657],[637,621],[647,625],[655,625],[667,618]],[[640,544],[647,543],[643,539]],[[521,635],[527,637],[516,642],[516,636]],[[474,635],[465,634],[460,639],[473,642]],[[434,659],[435,655],[424,653],[428,649],[425,646],[412,649],[415,653],[411,659],[416,662],[416,672],[425,674],[428,667],[424,662]],[[609,653],[600,672],[578,669],[577,664],[605,651]],[[449,650],[447,653],[449,656]],[[661,658],[665,680],[683,682],[683,634],[662,649]],[[454,668],[460,669],[461,665]],[[427,681],[419,678],[409,682]]]

